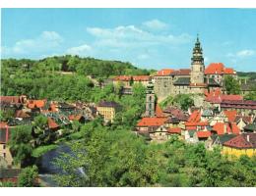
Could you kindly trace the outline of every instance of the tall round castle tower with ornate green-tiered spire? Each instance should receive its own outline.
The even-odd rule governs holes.
[[[203,49],[197,35],[197,41],[193,49],[193,57],[191,58],[190,83],[204,83],[205,81],[205,65],[203,57]]]

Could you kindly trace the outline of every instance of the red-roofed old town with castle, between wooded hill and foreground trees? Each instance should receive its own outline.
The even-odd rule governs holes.
[[[29,72],[28,67],[23,65],[24,72]],[[52,72],[63,76],[74,74],[54,69]],[[28,94],[10,96],[7,89],[6,95],[1,96],[0,167],[4,169],[0,172],[1,181],[17,183],[21,169],[31,162],[22,158],[22,151],[17,148],[31,148],[29,157],[37,159],[63,142],[82,138],[78,136],[82,125],[98,119],[110,129],[128,123],[130,132],[143,138],[147,145],[177,138],[189,145],[200,143],[207,151],[221,148],[222,155],[229,159],[256,156],[256,100],[250,100],[249,96],[255,93],[255,79],[239,77],[223,63],[205,66],[199,37],[188,69],[166,68],[149,74],[119,74],[104,79],[89,74],[82,77],[87,77],[90,85],[98,89],[96,94],[105,90],[105,95],[96,102],[60,101],[48,97],[36,99],[37,96]],[[237,93],[236,84],[240,86]],[[117,98],[111,98],[113,92],[117,92],[113,95]],[[129,103],[136,96],[141,105]],[[122,109],[125,104],[116,101],[119,97],[123,97],[122,103],[127,103],[129,109]],[[138,108],[136,115],[124,120],[124,111],[134,108]],[[28,129],[31,135],[27,138]]]

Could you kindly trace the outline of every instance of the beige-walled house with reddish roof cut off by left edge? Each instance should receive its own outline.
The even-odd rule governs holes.
[[[10,152],[7,142],[10,139],[10,128],[7,123],[0,123],[0,157],[8,168],[13,166],[13,156]],[[2,164],[4,164],[2,163]],[[1,166],[0,166],[1,168]]]

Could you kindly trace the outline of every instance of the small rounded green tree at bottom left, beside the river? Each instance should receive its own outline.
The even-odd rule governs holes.
[[[37,175],[38,175],[38,170],[36,166],[23,169],[18,177],[18,186],[20,187],[38,186],[36,182]]]

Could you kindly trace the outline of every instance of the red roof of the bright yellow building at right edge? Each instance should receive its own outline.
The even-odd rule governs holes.
[[[243,133],[224,142],[224,146],[232,148],[256,148],[256,133]]]

